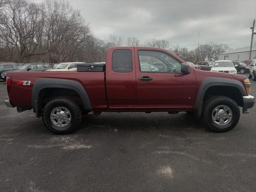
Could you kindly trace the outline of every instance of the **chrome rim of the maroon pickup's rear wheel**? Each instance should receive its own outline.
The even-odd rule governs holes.
[[[71,113],[66,107],[56,107],[52,110],[50,118],[57,127],[66,127],[71,122]]]

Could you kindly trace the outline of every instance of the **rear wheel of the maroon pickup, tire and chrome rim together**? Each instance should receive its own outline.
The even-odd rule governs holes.
[[[42,120],[50,131],[56,134],[69,134],[79,127],[82,111],[73,100],[56,98],[44,106]]]

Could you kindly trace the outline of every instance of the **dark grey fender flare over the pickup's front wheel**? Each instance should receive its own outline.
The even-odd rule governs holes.
[[[200,88],[197,93],[196,102],[194,104],[194,112],[197,117],[200,117],[202,114],[202,107],[203,107],[203,100],[204,95],[206,93],[206,90],[212,86],[231,86],[238,88],[238,90],[241,92],[242,96],[246,96],[246,90],[244,88],[244,85],[234,79],[229,78],[218,78],[218,77],[209,77],[202,81]]]

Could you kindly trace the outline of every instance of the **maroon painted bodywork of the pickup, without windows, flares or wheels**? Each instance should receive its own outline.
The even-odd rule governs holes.
[[[131,50],[132,72],[112,70],[112,52],[116,49]],[[60,78],[81,83],[95,111],[182,111],[193,108],[198,90],[205,78],[232,78],[242,84],[245,78],[234,74],[195,70],[192,66],[189,66],[188,75],[140,72],[138,50],[160,50],[185,63],[171,52],[160,48],[109,48],[106,56],[106,89],[104,72],[8,72],[8,76],[12,78],[12,86],[8,93],[10,101],[14,106],[32,108],[34,82],[39,78],[52,78],[53,81],[54,78]],[[142,76],[150,76],[153,80],[139,81],[138,78]],[[31,81],[31,83],[16,85],[20,81]]]

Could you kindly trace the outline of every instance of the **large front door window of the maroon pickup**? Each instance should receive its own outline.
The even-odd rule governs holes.
[[[159,51],[138,51],[141,72],[180,73],[180,62]]]

